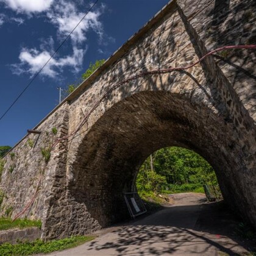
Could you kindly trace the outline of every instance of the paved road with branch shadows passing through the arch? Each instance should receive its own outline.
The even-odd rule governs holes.
[[[172,195],[174,204],[98,233],[95,240],[51,255],[248,255],[229,233],[233,217],[204,195]]]

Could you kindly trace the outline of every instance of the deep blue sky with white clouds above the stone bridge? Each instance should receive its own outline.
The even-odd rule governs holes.
[[[168,0],[100,0],[0,121],[0,146],[13,146],[59,102],[56,87],[107,59]],[[0,0],[0,116],[93,1]]]

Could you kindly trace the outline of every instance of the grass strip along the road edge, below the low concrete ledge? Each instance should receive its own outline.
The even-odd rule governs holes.
[[[64,249],[79,246],[80,244],[93,239],[93,236],[71,236],[71,238],[51,240],[47,242],[38,239],[33,242],[18,244],[4,243],[0,246],[0,255],[46,254],[49,252],[62,251]]]

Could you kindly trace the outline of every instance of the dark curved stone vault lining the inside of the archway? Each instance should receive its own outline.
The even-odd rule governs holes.
[[[113,105],[85,135],[69,169],[68,190],[91,219],[106,226],[127,216],[123,193],[134,190],[146,157],[182,146],[213,166],[224,199],[243,209],[248,204],[240,176],[243,154],[235,152],[233,141],[230,126],[203,104],[164,91],[136,93]]]

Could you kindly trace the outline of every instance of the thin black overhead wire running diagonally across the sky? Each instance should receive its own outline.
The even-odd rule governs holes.
[[[41,73],[41,71],[44,69],[44,67],[48,64],[48,62],[52,59],[52,57],[54,57],[54,55],[59,51],[59,49],[62,47],[62,45],[66,42],[66,40],[68,40],[68,38],[71,36],[71,34],[74,32],[74,30],[79,26],[79,24],[84,20],[85,16],[87,16],[87,14],[93,9],[93,7],[97,4],[99,0],[96,0],[94,2],[93,5],[91,5],[90,9],[85,13],[85,15],[82,17],[82,19],[79,21],[79,23],[77,23],[77,25],[74,27],[74,29],[68,34],[68,36],[62,41],[62,43],[59,45],[59,47],[55,50],[55,52],[51,55],[51,57],[49,58],[49,60],[41,67],[41,69],[34,75],[34,77],[32,77],[32,79],[29,81],[29,84],[27,84],[27,86],[21,91],[21,93],[17,96],[17,98],[12,102],[12,104],[10,105],[9,108],[7,108],[7,110],[5,110],[5,112],[2,114],[0,121],[2,120],[2,118],[9,112],[10,108],[13,107],[13,105],[16,103],[16,101],[18,101],[18,99],[21,98],[21,96],[23,95],[23,93],[27,90],[27,88],[30,87],[30,85],[32,84],[32,82],[34,82],[34,80],[37,78],[37,76]]]

